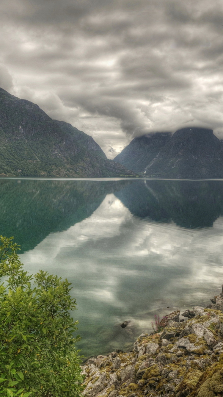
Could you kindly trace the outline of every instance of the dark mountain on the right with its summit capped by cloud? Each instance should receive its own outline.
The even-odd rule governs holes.
[[[223,177],[223,145],[211,129],[183,128],[172,136],[167,133],[163,137],[161,133],[160,139],[156,138],[157,135],[133,139],[114,160],[129,166],[128,154],[131,170],[150,177]],[[137,143],[136,152],[134,141]]]

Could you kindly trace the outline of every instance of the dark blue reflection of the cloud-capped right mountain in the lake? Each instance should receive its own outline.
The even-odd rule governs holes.
[[[212,227],[223,214],[222,181],[133,181],[116,194],[132,214],[183,227]]]

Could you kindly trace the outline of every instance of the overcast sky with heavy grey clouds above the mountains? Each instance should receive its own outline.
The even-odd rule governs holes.
[[[108,158],[155,131],[223,138],[223,2],[1,0],[0,87]]]

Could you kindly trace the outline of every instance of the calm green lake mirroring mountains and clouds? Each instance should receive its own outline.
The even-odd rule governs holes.
[[[25,269],[72,283],[85,356],[221,291],[223,181],[0,179],[0,211]]]

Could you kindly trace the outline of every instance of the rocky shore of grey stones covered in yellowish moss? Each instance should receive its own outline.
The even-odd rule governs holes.
[[[133,351],[114,351],[83,365],[85,397],[223,396],[223,289],[206,308],[163,318],[160,332],[143,333]]]

